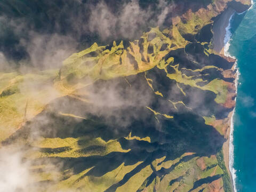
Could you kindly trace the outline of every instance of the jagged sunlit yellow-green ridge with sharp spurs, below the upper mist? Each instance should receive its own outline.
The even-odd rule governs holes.
[[[149,36],[155,37],[149,39]],[[177,38],[171,40],[158,28],[151,28],[139,41],[130,42],[127,49],[124,49],[123,41],[119,45],[114,41],[110,48],[94,43],[88,49],[74,53],[63,62],[60,79],[70,83],[78,82],[86,76],[90,77],[91,81],[96,81],[135,75],[159,65],[168,52],[184,46],[184,41],[181,43]],[[162,49],[163,45],[167,46]],[[151,51],[148,51],[149,49]]]

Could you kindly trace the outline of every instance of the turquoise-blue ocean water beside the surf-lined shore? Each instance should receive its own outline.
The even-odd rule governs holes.
[[[251,9],[234,14],[228,52],[237,58],[238,92],[234,122],[236,191],[256,191],[256,0]]]

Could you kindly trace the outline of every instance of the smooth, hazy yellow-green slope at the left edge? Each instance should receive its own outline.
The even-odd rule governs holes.
[[[0,141],[40,113],[51,100],[60,97],[52,86],[56,74],[56,70],[0,74],[3,82],[0,86]]]

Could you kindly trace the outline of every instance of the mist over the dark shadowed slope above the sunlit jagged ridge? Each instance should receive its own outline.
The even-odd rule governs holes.
[[[0,12],[1,60],[14,62],[16,68],[59,68],[69,55],[94,42],[106,45],[119,39],[133,41],[149,27],[163,26],[174,8],[164,0],[142,5],[139,0],[65,1],[52,5],[25,1],[19,7],[24,14],[11,8]],[[41,9],[39,13],[37,9]]]

